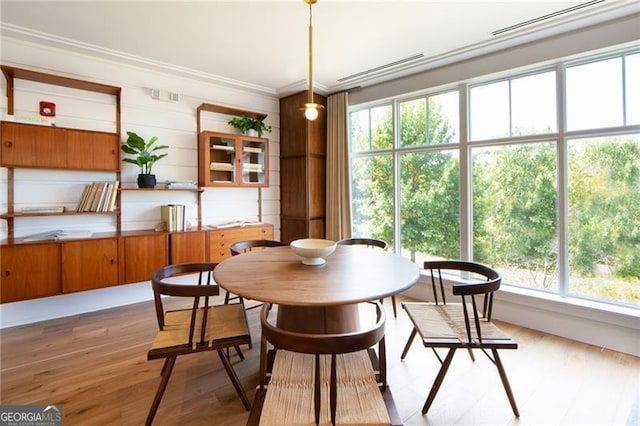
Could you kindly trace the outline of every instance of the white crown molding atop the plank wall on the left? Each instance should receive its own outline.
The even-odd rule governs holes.
[[[2,34],[3,37],[13,37],[18,40],[33,42],[53,48],[69,50],[75,53],[97,56],[103,59],[126,63],[129,65],[142,66],[144,68],[150,68],[157,71],[169,72],[171,74],[193,78],[207,83],[218,84],[225,87],[248,91],[260,95],[278,95],[278,93],[274,89],[269,87],[209,74],[191,68],[181,67],[162,61],[144,58],[142,56],[131,55],[118,50],[108,49],[65,37],[59,37],[53,34],[35,31],[18,25],[7,24],[5,22],[0,22],[0,34]]]

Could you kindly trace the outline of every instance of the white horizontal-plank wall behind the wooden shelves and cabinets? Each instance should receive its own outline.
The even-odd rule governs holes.
[[[134,131],[145,139],[158,136],[158,143],[169,145],[169,156],[154,166],[158,181],[193,179],[197,181],[196,108],[203,102],[230,106],[267,114],[266,123],[273,128],[269,137],[270,187],[262,190],[262,220],[274,224],[280,234],[280,149],[279,101],[250,90],[242,90],[176,76],[170,71],[146,69],[130,64],[91,57],[53,47],[2,38],[0,62],[18,68],[108,84],[122,88],[122,137]],[[1,113],[7,112],[6,81],[2,86]],[[180,95],[176,103],[151,99],[150,89]],[[39,101],[56,103],[56,124],[62,127],[115,131],[115,101],[107,95],[60,88],[16,80],[15,113],[38,116]],[[227,124],[230,116],[202,113],[201,129],[236,133]],[[7,169],[0,169],[0,211],[7,211]],[[123,185],[136,186],[137,167],[123,164]],[[74,209],[84,185],[97,180],[113,180],[111,173],[16,169],[16,209],[36,205],[65,205]],[[196,223],[195,193],[123,192],[122,229],[152,229],[160,221],[160,205],[187,205],[187,219]],[[202,196],[203,224],[229,220],[258,219],[258,190],[255,188],[207,188]],[[115,230],[110,216],[25,218],[15,221],[15,236],[25,236],[53,229]],[[0,222],[0,238],[6,238],[6,222]],[[33,261],[37,262],[37,259]],[[1,259],[0,259],[1,262]],[[90,277],[88,277],[90,279]],[[148,283],[118,286],[25,302],[2,305],[0,327],[8,327],[81,312],[104,309],[148,300],[152,296]]]

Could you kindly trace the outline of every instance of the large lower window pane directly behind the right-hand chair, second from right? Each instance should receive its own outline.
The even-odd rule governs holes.
[[[473,257],[509,283],[558,290],[554,142],[472,150]]]

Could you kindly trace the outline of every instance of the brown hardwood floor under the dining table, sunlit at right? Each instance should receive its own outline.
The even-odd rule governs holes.
[[[398,301],[399,307],[400,300]],[[520,408],[513,413],[497,371],[481,353],[459,351],[431,410],[420,409],[439,364],[414,343],[400,352],[410,323],[387,309],[389,384],[406,425],[630,425],[638,416],[640,358],[499,323],[520,348],[502,351]],[[232,362],[253,399],[258,381],[258,309],[249,311],[253,349]],[[143,424],[160,381],[147,361],[156,333],[152,302],[0,330],[2,404],[61,404],[65,425]],[[634,407],[635,408],[632,408]],[[158,410],[158,425],[244,425],[248,412],[214,353],[179,358]]]

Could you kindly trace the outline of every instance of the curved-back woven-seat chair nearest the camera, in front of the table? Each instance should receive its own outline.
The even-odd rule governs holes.
[[[376,305],[376,320],[371,321],[373,324],[355,332],[341,334],[309,334],[278,328],[269,321],[270,310],[267,306],[264,306],[260,315],[262,326],[260,385],[256,394],[256,401],[260,394],[263,395],[264,399],[260,403],[254,402],[253,409],[258,409],[261,413],[253,416],[253,420],[255,422],[260,421],[260,424],[299,424],[301,421],[307,422],[307,419],[301,419],[298,416],[308,413],[303,408],[305,403],[308,404],[310,402],[310,398],[305,398],[305,396],[310,397],[308,393],[305,393],[305,389],[309,389],[308,386],[305,386],[305,383],[308,383],[306,380],[310,378],[309,376],[312,376],[313,412],[316,424],[319,424],[321,420],[321,402],[327,400],[326,395],[324,398],[321,395],[321,389],[326,386],[327,381],[329,385],[328,401],[331,424],[336,422],[338,382],[340,383],[340,392],[345,392],[343,399],[346,398],[346,395],[352,395],[350,392],[358,392],[357,396],[361,404],[364,405],[362,409],[365,417],[364,421],[372,420],[372,413],[376,412],[377,408],[378,413],[382,410],[383,416],[386,417],[385,421],[389,424],[389,414],[381,393],[381,390],[383,392],[386,390],[385,315],[381,304],[379,302],[374,303]],[[367,305],[371,306],[370,304]],[[275,348],[275,361],[271,374],[268,372],[269,360],[274,358],[269,356],[267,351],[268,343],[271,343]],[[376,344],[378,344],[380,385],[377,383],[375,371],[367,351],[367,349]],[[312,375],[306,375],[302,372],[304,367],[309,364],[309,355],[313,355],[314,360]],[[321,355],[328,355],[328,357],[321,358]],[[327,358],[330,358],[329,362],[327,362]],[[328,374],[327,371],[329,371]],[[328,379],[327,376],[329,376]],[[268,386],[267,378],[270,379]],[[290,386],[294,386],[297,390],[294,393],[287,393],[286,389],[290,388]],[[356,388],[357,390],[354,391],[353,389]],[[270,393],[274,395],[273,398],[270,398]],[[291,401],[291,398],[299,398],[300,400]],[[294,406],[290,404],[294,404],[297,407],[295,412],[290,408],[286,408]],[[380,409],[380,407],[382,408]],[[351,409],[352,407],[348,408]],[[326,407],[324,410],[326,410]],[[326,413],[326,411],[323,411],[323,413]],[[356,414],[350,412],[350,415]],[[260,419],[260,416],[262,416],[262,419]],[[375,418],[376,416],[374,415],[373,417]],[[251,416],[248,424],[253,424]]]

